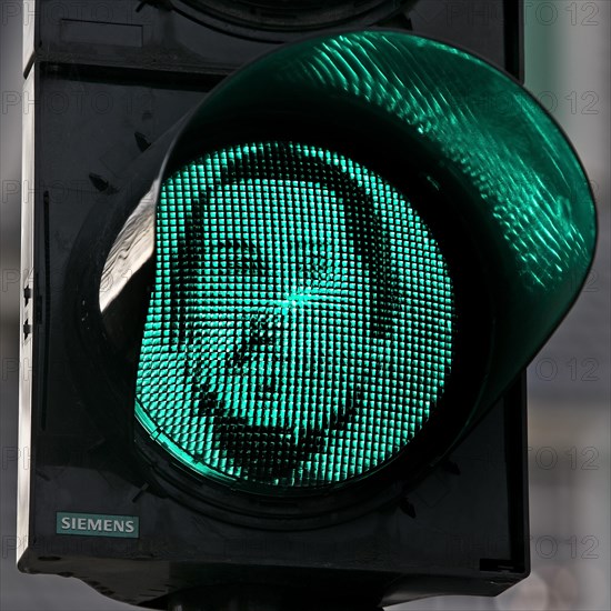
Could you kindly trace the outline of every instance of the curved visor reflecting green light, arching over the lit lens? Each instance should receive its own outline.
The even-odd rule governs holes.
[[[558,123],[491,63],[384,30],[315,38],[270,53],[226,81],[197,121],[257,112],[291,112],[296,122],[313,117],[337,129],[337,138],[354,140],[361,130],[365,154],[392,157],[394,167],[409,168],[413,151],[425,151],[421,157],[439,184],[454,181],[469,193],[451,201],[449,218],[463,219],[471,231],[465,239],[480,246],[489,268],[473,299],[494,308],[479,399],[490,407],[565,315],[593,257],[592,192]]]

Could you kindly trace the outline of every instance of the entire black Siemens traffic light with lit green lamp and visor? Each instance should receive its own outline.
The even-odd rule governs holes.
[[[588,272],[592,197],[507,72],[367,29],[399,4],[37,21],[22,570],[211,610],[528,574],[523,370]]]

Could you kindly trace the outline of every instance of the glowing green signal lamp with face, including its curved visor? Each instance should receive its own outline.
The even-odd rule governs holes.
[[[420,180],[440,197],[410,201]],[[443,397],[412,454],[439,458],[559,324],[595,240],[585,174],[540,104],[392,31],[306,40],[223,81],[158,200],[137,418],[200,475],[271,493],[371,474]]]

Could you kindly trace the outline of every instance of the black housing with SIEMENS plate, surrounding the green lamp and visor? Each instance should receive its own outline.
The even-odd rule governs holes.
[[[100,423],[118,413],[104,378],[119,357],[90,345],[99,360],[73,363],[82,352],[67,325],[91,321],[72,261],[102,254],[73,248],[92,211],[100,232],[110,231],[103,219],[117,214],[121,177],[138,171],[143,151],[156,144],[161,159],[172,126],[276,42],[209,28],[171,2],[104,3],[112,14],[96,2],[36,4],[24,56],[27,91],[38,103],[24,130],[24,177],[36,188],[24,202],[32,242],[23,242],[23,267],[33,274],[23,289],[33,292],[24,302],[23,354],[33,374],[22,378],[20,434],[32,455],[19,484],[21,570],[73,575],[109,597],[160,609],[176,605],[177,592],[199,589],[191,599],[203,592],[219,605],[204,609],[250,595],[270,609],[293,597],[303,609],[353,611],[434,594],[494,595],[525,577],[523,375],[417,485],[350,519],[274,529],[210,515],[168,495],[151,477],[154,464],[126,460],[133,423]],[[470,49],[521,78],[520,7],[490,0],[457,11],[455,2],[420,0],[393,24]],[[92,415],[91,394],[108,411]],[[58,511],[139,515],[140,538],[57,534]],[[278,595],[267,600],[260,587]]]

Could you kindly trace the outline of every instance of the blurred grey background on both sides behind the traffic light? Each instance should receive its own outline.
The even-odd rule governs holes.
[[[21,117],[27,111],[14,102],[22,86],[22,7],[0,0],[0,609],[133,609],[78,580],[22,575],[14,568],[17,461],[11,457],[18,422]],[[575,308],[529,369],[532,574],[495,599],[434,598],[393,611],[611,609],[611,2],[524,0],[524,12],[527,87],[581,156],[600,228],[597,259]]]

